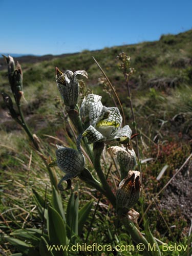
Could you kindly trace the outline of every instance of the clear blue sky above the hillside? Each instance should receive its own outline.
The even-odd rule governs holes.
[[[192,28],[191,0],[0,0],[0,52],[62,54]]]

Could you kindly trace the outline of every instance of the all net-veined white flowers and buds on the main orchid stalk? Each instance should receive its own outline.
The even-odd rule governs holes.
[[[67,70],[62,73],[56,68],[57,86],[67,111],[74,110],[78,101],[79,84],[76,79],[78,74],[88,78],[86,71],[73,73]],[[80,150],[81,138],[86,137],[88,144],[114,141],[126,144],[126,148],[112,146],[108,148],[108,151],[112,157],[117,158],[121,170],[121,182],[116,193],[117,212],[123,214],[129,211],[137,202],[141,188],[140,173],[133,170],[136,165],[136,154],[129,144],[132,136],[130,126],[121,127],[122,117],[118,108],[106,108],[101,103],[101,96],[95,94],[89,94],[83,99],[80,107],[80,122],[83,132],[77,139],[77,150],[57,146],[55,163],[66,174],[61,181],[68,181],[76,176],[87,176],[93,181],[89,170],[84,167],[84,156]]]

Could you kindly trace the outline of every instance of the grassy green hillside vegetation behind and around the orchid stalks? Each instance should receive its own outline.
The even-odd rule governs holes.
[[[96,189],[88,187],[79,178],[72,180],[72,185],[78,183],[78,188],[75,186],[72,192],[61,192],[60,196],[54,188],[54,182],[50,182],[50,173],[46,167],[50,158],[55,157],[55,143],[76,148],[75,128],[58,97],[55,67],[61,71],[86,70],[88,73],[87,80],[80,80],[79,104],[84,95],[93,91],[102,96],[103,105],[114,105],[109,83],[92,56],[99,62],[120,98],[125,124],[130,125],[133,133],[137,127],[139,133],[141,162],[136,169],[142,170],[143,197],[134,206],[140,214],[138,222],[142,219],[139,227],[145,230],[148,241],[152,239],[150,230],[152,231],[161,251],[162,242],[188,246],[186,254],[184,251],[164,251],[162,255],[191,254],[191,158],[155,203],[152,200],[191,154],[191,41],[192,30],[189,30],[178,35],[162,35],[159,41],[142,42],[138,45],[93,52],[86,50],[64,57],[50,56],[50,60],[42,57],[42,61],[36,63],[31,63],[30,57],[24,63],[22,58],[18,58],[24,74],[24,97],[21,99],[23,115],[32,134],[35,133],[40,139],[40,150],[35,150],[34,144],[22,127],[8,115],[6,104],[0,99],[0,254],[52,255],[51,252],[45,254],[46,245],[50,242],[62,245],[76,242],[89,245],[97,243],[112,245],[113,248],[116,245],[135,246],[126,227],[117,218],[109,199],[101,196]],[[133,122],[120,61],[116,58],[120,52],[131,56],[131,66],[136,70],[128,82],[136,123]],[[1,91],[11,96],[6,66],[1,67],[0,84]],[[117,101],[116,104],[118,105]],[[15,103],[13,105],[16,109]],[[119,105],[118,108],[120,109]],[[135,139],[132,144],[136,148]],[[91,169],[91,163],[87,159],[86,162]],[[113,193],[116,193],[120,181],[119,167],[112,166],[113,160],[106,151],[101,163],[104,174],[109,173],[108,183]],[[157,180],[166,165],[162,177]],[[62,173],[59,168],[53,168],[53,172],[56,172],[56,178],[60,180]],[[147,210],[145,222],[143,212],[150,203],[152,206]],[[57,221],[52,221],[53,219]],[[150,230],[147,229],[147,223]],[[50,226],[53,224],[54,227]],[[57,231],[59,226],[63,226],[61,233]],[[59,242],[54,241],[57,236],[60,238]],[[88,255],[87,252],[81,254]],[[94,252],[94,255],[101,255],[101,252]],[[142,252],[137,249],[116,254],[105,251],[103,255],[142,255]]]

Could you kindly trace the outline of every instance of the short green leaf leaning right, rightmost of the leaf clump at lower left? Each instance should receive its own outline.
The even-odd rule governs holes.
[[[93,200],[87,202],[80,210],[79,210],[79,220],[78,220],[78,234],[82,233],[82,229],[86,221],[88,220],[88,216],[90,214],[91,208],[93,205]]]

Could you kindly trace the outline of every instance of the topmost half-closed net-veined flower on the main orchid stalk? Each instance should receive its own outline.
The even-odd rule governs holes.
[[[57,87],[63,97],[67,110],[74,109],[78,101],[79,83],[76,78],[77,75],[82,75],[88,78],[88,74],[84,70],[77,70],[74,73],[70,70],[66,70],[65,73],[62,73],[58,68],[56,68],[55,77]]]

